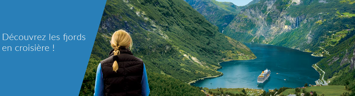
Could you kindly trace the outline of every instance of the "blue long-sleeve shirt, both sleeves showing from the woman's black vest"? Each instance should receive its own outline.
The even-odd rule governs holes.
[[[146,72],[146,65],[143,64],[143,76],[142,76],[142,96],[149,95],[149,84]],[[101,63],[97,66],[96,80],[95,80],[95,93],[94,96],[104,96],[104,79],[102,77]]]

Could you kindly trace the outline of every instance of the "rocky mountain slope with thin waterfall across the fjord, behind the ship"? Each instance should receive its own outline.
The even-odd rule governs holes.
[[[342,1],[260,0],[242,10],[224,34],[242,42],[280,45],[328,56],[327,48],[337,45],[348,34],[342,32],[355,26],[354,19],[350,19],[355,6]]]

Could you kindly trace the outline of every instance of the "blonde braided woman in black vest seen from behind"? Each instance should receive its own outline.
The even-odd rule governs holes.
[[[148,96],[146,68],[130,51],[130,34],[116,31],[110,43],[113,50],[97,66],[94,96]]]

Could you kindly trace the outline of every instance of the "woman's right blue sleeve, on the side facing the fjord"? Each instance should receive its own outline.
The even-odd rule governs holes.
[[[144,64],[143,64],[143,76],[142,76],[141,84],[142,84],[142,96],[148,96],[150,91],[149,91],[146,65]]]

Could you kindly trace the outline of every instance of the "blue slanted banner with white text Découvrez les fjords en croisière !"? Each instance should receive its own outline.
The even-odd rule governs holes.
[[[106,0],[1,0],[0,96],[77,96]]]

